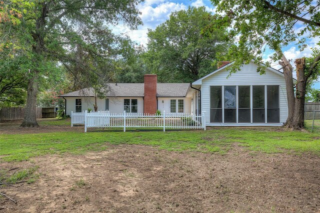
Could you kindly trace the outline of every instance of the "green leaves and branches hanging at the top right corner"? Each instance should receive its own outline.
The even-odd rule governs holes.
[[[229,35],[237,38],[237,42],[219,58],[234,61],[234,66],[230,67],[231,72],[238,70],[242,63],[249,63],[251,59],[262,62],[262,55],[267,48],[275,51],[269,56],[274,61],[281,58],[281,48],[288,44],[295,42],[298,50],[303,51],[307,46],[307,39],[320,35],[320,10],[309,0],[211,1],[216,6],[217,18],[204,28],[203,34],[220,27],[230,27]],[[301,23],[298,20],[302,20],[302,26],[298,25]],[[319,55],[317,48],[312,51]],[[258,71],[264,73],[264,67],[257,64]],[[267,62],[266,65],[270,64]]]

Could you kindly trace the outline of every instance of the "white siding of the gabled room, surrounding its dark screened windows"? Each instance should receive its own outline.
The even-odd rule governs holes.
[[[256,72],[257,65],[254,63],[244,64],[241,70],[232,73],[227,79],[229,71],[221,70],[202,80],[201,84],[201,107],[206,112],[206,125],[210,124],[210,86],[236,86],[236,85],[279,85],[280,98],[280,123],[287,118],[287,100],[284,77],[269,70],[260,75]],[[233,124],[234,125],[234,124]],[[240,125],[240,124],[237,124]],[[252,124],[255,125],[255,124]]]

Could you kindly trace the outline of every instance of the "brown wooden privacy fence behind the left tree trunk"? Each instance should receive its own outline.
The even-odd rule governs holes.
[[[0,109],[0,120],[21,120],[24,117],[24,107],[3,107]],[[36,108],[36,118],[42,117],[42,109]]]

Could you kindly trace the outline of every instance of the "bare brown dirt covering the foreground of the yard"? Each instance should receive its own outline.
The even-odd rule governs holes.
[[[1,168],[39,166],[39,179],[1,192],[0,212],[13,213],[319,213],[320,158],[225,155],[108,145],[85,155],[42,156]],[[76,184],[83,180],[83,186]]]

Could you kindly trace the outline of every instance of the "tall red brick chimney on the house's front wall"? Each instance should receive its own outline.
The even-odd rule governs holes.
[[[144,75],[144,113],[156,112],[156,75]]]

